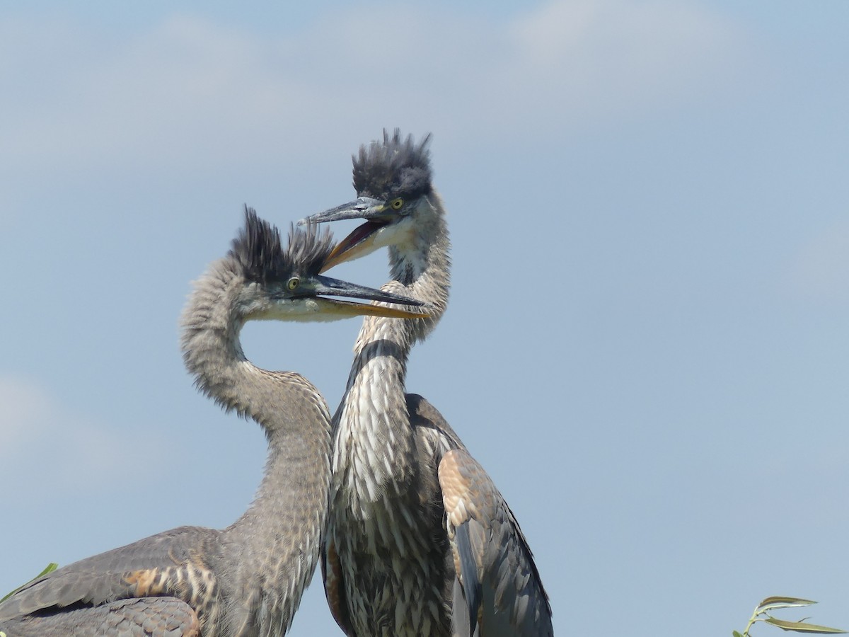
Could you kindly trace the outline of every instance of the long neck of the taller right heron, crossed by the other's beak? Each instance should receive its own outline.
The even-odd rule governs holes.
[[[418,224],[416,234],[404,245],[391,248],[393,279],[383,286],[424,302],[429,318],[363,319],[337,414],[335,471],[345,465],[346,458],[386,458],[346,478],[352,481],[353,493],[370,501],[378,499],[386,485],[400,485],[405,474],[415,471],[415,442],[404,396],[407,360],[413,345],[433,330],[445,312],[451,276],[451,246],[441,200],[436,193],[431,198],[427,203],[431,214]]]

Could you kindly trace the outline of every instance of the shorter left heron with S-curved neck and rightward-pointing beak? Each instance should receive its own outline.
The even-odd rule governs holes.
[[[408,302],[319,276],[332,244],[314,228],[277,228],[245,209],[245,228],[211,264],[183,312],[183,360],[196,385],[268,440],[256,499],[221,531],[179,527],[77,561],[0,604],[8,637],[40,635],[282,635],[318,562],[330,481],[330,414],[295,372],[259,369],[239,330],[253,319],[417,316],[323,296]],[[177,471],[175,469],[175,471]]]

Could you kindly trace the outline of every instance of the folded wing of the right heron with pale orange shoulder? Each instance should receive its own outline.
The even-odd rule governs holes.
[[[551,606],[513,511],[465,449],[439,465],[448,541],[456,572],[453,634],[554,634]]]

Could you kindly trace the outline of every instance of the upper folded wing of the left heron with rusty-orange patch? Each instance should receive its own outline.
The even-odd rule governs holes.
[[[68,606],[99,606],[155,595],[172,595],[200,605],[199,589],[208,592],[215,581],[200,555],[209,550],[216,533],[179,527],[76,561],[26,583],[3,601],[0,621]],[[204,586],[195,586],[201,580]]]

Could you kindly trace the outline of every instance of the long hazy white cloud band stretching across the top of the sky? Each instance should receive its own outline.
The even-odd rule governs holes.
[[[0,28],[3,163],[239,162],[387,122],[548,135],[715,93],[742,49],[728,20],[664,0],[449,11],[360,7],[279,37],[194,15],[125,40],[19,20]]]

